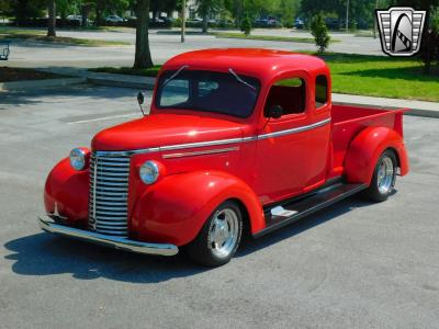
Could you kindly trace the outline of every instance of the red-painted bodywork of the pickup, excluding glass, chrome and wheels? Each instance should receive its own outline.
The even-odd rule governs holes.
[[[95,135],[93,150],[133,150],[161,146],[250,138],[312,125],[331,118],[311,131],[228,145],[188,147],[132,157],[128,190],[128,228],[132,238],[190,242],[206,218],[222,202],[238,201],[248,213],[252,234],[264,228],[262,206],[316,189],[328,179],[369,184],[376,159],[386,149],[395,150],[402,174],[408,171],[403,141],[403,111],[371,110],[358,106],[326,105],[315,110],[315,79],[328,78],[329,70],[316,57],[263,49],[211,49],[182,54],[161,69],[209,69],[256,77],[261,91],[248,118],[183,110],[157,110],[151,114]],[[270,87],[281,79],[299,77],[306,83],[305,113],[279,120],[263,116]],[[284,97],[284,95],[282,95]],[[273,100],[270,99],[270,102]],[[285,100],[282,100],[285,102]],[[237,150],[168,159],[164,156],[218,148]],[[146,160],[160,163],[161,175],[145,185],[138,168]],[[45,206],[48,213],[57,202],[69,224],[87,224],[88,170],[75,171],[68,159],[59,162],[47,178]]]

